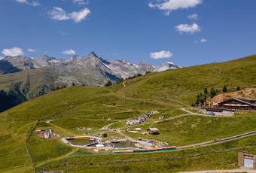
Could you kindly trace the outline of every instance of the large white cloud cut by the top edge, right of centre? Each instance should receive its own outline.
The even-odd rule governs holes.
[[[155,4],[150,2],[148,6],[150,8],[157,8],[160,11],[166,11],[168,15],[171,11],[178,9],[194,8],[202,2],[203,0],[157,0]]]

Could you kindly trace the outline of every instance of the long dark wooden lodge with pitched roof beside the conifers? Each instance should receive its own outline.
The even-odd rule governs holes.
[[[215,108],[256,111],[256,100],[254,99],[226,99],[214,105]]]

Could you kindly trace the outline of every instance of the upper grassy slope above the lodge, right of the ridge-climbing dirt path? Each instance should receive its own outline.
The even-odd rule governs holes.
[[[212,63],[152,73],[126,82],[124,93],[136,98],[167,96],[188,105],[205,87],[229,88],[256,84],[256,55],[230,62]],[[119,87],[119,86],[117,86]],[[123,91],[119,92],[120,95]]]

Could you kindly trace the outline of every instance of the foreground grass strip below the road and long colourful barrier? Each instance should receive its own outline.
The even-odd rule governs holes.
[[[242,146],[250,147],[242,149]],[[236,165],[238,151],[256,153],[255,136],[209,147],[163,153],[90,156],[87,153],[83,154],[82,150],[78,150],[78,153],[69,156],[67,160],[62,159],[59,162],[52,163],[50,170],[58,170],[58,168],[61,168],[58,165],[66,164],[66,162],[69,162],[69,172],[76,173],[83,172],[84,170],[87,172],[178,172],[221,168],[230,169],[238,168]],[[83,162],[94,164],[82,165]],[[99,165],[97,163],[102,164]],[[49,165],[45,165],[46,168],[47,166]]]

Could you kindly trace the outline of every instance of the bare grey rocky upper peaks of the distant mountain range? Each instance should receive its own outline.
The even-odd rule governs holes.
[[[180,68],[172,62],[164,62],[154,66],[147,62],[133,64],[126,60],[105,60],[91,52],[87,56],[72,56],[68,59],[56,59],[47,55],[29,58],[26,56],[6,56],[0,60],[0,74],[14,73],[23,70],[38,68],[51,68],[59,73],[59,82],[72,84],[84,83],[87,85],[102,85],[106,80],[117,82],[121,78],[126,79],[136,74],[145,74],[147,71],[159,72],[172,68]],[[95,77],[96,81],[90,83],[77,78],[77,74]],[[90,78],[89,77],[89,78]],[[64,79],[66,78],[66,79]],[[104,78],[104,80],[99,80]],[[72,82],[72,83],[71,83]]]

